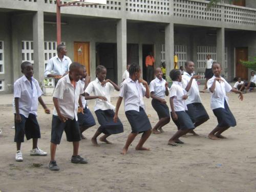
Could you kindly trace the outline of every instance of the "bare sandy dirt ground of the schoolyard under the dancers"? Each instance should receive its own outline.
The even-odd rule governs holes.
[[[59,172],[48,169],[49,154],[47,157],[29,156],[31,141],[22,145],[24,161],[15,161],[12,107],[1,106],[0,191],[256,191],[256,92],[245,94],[244,101],[239,101],[234,93],[228,96],[230,109],[237,119],[237,126],[223,134],[228,139],[216,141],[207,138],[217,125],[217,119],[210,110],[210,94],[204,93],[201,97],[210,119],[196,129],[199,137],[181,138],[185,144],[177,147],[167,145],[177,130],[171,121],[163,127],[163,134],[152,134],[145,143],[152,151],[135,151],[138,136],[129,153],[120,155],[131,132],[122,103],[119,117],[124,133],[109,138],[114,144],[95,147],[90,139],[80,142],[79,153],[89,160],[89,164],[70,162],[73,147],[63,134],[56,153]],[[151,99],[145,98],[144,101],[146,113],[154,126],[157,114],[151,106]],[[90,101],[91,111],[93,105],[94,101]],[[52,112],[53,105],[48,106]],[[38,114],[41,128],[38,144],[50,153],[52,116],[44,114],[41,107]],[[84,135],[91,138],[96,129],[97,125]]]

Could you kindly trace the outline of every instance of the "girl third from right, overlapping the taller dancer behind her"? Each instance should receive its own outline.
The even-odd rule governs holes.
[[[185,100],[187,99],[186,91],[182,88],[181,73],[180,70],[170,71],[170,78],[173,80],[172,87],[170,87],[170,112],[174,123],[178,127],[178,131],[169,139],[168,145],[177,146],[176,143],[183,144],[184,142],[179,138],[189,131],[195,129],[193,122],[186,113],[187,105]]]

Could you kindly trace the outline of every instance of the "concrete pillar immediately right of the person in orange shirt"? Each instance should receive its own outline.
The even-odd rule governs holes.
[[[174,24],[165,26],[165,65],[166,76],[174,69]]]

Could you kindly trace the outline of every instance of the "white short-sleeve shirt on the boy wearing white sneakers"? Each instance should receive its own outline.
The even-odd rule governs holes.
[[[28,118],[29,114],[37,115],[38,97],[43,94],[38,81],[31,77],[31,82],[25,75],[14,82],[14,98],[19,98],[19,113]],[[15,110],[15,101],[13,100],[13,113]]]

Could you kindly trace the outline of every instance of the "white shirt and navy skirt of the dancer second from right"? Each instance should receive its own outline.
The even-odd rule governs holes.
[[[182,86],[184,89],[187,87],[187,84],[190,81],[191,77],[193,77],[193,74],[188,74],[187,72],[184,72],[182,76]],[[208,120],[209,116],[201,102],[196,79],[193,79],[191,87],[187,92],[187,96],[188,97],[185,100],[185,103],[187,105],[187,114],[189,115],[193,123],[201,122],[202,120]]]

